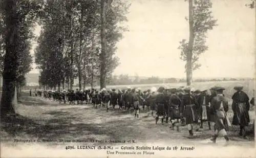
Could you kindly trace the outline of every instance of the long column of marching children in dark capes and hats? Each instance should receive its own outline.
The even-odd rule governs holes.
[[[254,98],[249,102],[249,97],[242,91],[243,86],[235,86],[237,91],[232,96],[233,125],[240,126],[240,136],[246,138],[245,127],[249,124],[250,103],[254,105]],[[55,101],[68,101],[70,104],[92,104],[95,108],[102,106],[106,111],[115,109],[119,105],[119,110],[134,111],[135,118],[139,118],[139,111],[142,109],[149,110],[148,115],[154,116],[156,124],[159,120],[164,124],[170,123],[170,128],[179,131],[180,126],[186,125],[188,128],[189,138],[193,138],[194,131],[203,128],[203,123],[208,123],[208,129],[214,127],[214,137],[212,141],[216,142],[219,132],[224,134],[228,141],[228,127],[231,125],[227,118],[228,101],[223,95],[225,88],[212,87],[209,89],[193,89],[190,87],[168,88],[168,87],[152,87],[147,91],[141,91],[140,88],[127,87],[126,89],[110,89],[105,88],[101,91],[97,89],[86,89],[85,91],[44,91],[37,94],[44,98],[53,98]]]

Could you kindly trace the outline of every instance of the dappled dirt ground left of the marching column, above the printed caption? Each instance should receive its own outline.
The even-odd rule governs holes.
[[[24,97],[23,105],[42,106],[42,108],[36,107],[36,109],[44,109],[45,111],[38,112],[38,115],[41,116],[37,116],[36,119],[15,115],[1,120],[2,130],[10,135],[9,138],[4,139],[10,141],[13,137],[47,140],[95,140],[104,138],[108,140],[135,139],[140,142],[148,140],[166,141],[166,139],[187,140],[188,131],[185,126],[180,127],[180,132],[178,132],[170,129],[170,124],[161,125],[159,123],[156,125],[152,116],[143,117],[141,115],[139,119],[135,119],[132,115],[133,113],[129,115],[130,111],[127,110],[119,111],[115,109],[114,111],[111,109],[106,112],[106,108],[95,109],[91,105],[76,105],[72,107],[72,105],[67,104],[67,108],[65,108],[66,106],[58,105],[57,103],[52,103],[51,105],[50,103],[39,98]],[[54,107],[49,109],[45,105]],[[33,113],[34,111],[28,112]],[[238,126],[230,128],[230,140],[241,141],[241,139],[236,140],[238,128]],[[194,140],[209,139],[212,134],[213,130],[208,130],[207,123],[204,123],[204,129],[195,132]],[[249,141],[253,140],[253,136],[249,137]]]

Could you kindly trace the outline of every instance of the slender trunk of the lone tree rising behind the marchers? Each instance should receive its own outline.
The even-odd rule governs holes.
[[[192,82],[192,56],[194,45],[194,30],[193,30],[193,0],[188,1],[188,14],[189,14],[189,41],[186,63],[186,79],[187,85],[190,86]]]

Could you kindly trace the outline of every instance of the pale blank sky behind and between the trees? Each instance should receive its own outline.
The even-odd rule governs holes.
[[[200,56],[202,66],[193,77],[254,76],[255,11],[245,7],[248,2],[212,0],[218,26],[208,33],[209,50]],[[120,65],[114,74],[185,78],[178,50],[179,41],[189,36],[185,16],[184,0],[133,0],[126,23],[130,31],[118,43]]]

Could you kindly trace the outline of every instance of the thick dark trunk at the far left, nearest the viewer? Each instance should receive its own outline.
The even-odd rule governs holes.
[[[13,99],[15,99],[15,84],[17,70],[17,6],[16,0],[5,1],[6,21],[6,54],[3,71],[3,93],[1,97],[1,117],[15,114]]]

